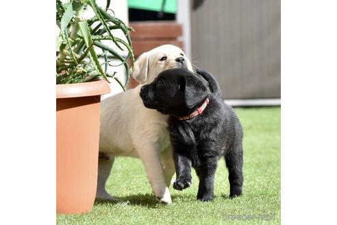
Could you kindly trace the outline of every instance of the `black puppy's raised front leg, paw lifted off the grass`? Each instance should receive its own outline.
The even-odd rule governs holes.
[[[191,176],[191,166],[192,163],[190,158],[186,154],[174,151],[173,158],[175,161],[175,171],[177,173],[177,178],[173,183],[173,188],[177,190],[182,190],[190,187],[192,183]]]

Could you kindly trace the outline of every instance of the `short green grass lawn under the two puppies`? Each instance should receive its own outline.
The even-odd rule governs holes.
[[[197,201],[198,178],[193,171],[189,189],[170,187],[173,204],[167,206],[155,201],[139,159],[116,158],[107,189],[122,202],[96,202],[88,214],[58,215],[57,224],[280,224],[280,108],[236,108],[236,112],[245,133],[244,193],[239,198],[228,198],[223,160],[216,171],[214,202]]]

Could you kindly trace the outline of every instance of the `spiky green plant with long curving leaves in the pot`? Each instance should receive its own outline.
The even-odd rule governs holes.
[[[106,1],[105,9],[97,5],[95,0],[70,0],[62,3],[56,0],[56,24],[60,27],[57,48],[58,58],[56,60],[56,84],[72,84],[79,82],[90,82],[97,78],[114,78],[118,84],[125,88],[129,81],[130,58],[134,64],[134,54],[129,31],[123,21],[116,18],[112,10],[109,12],[110,0]],[[88,8],[95,12],[95,16],[90,19],[83,19],[82,15]],[[112,30],[120,29],[126,40],[118,38],[112,34]],[[104,40],[104,43],[102,42]],[[116,51],[127,51],[126,57],[121,56]],[[112,54],[121,63],[112,65],[109,63],[107,54]],[[104,62],[99,62],[99,56],[104,56]],[[108,66],[125,67],[127,74],[125,84],[108,74]]]

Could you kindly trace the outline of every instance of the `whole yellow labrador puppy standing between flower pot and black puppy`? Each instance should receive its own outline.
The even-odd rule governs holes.
[[[182,49],[162,45],[142,54],[134,64],[132,75],[141,84],[152,82],[161,71],[185,67],[192,71]],[[168,187],[175,173],[167,116],[145,108],[134,89],[103,99],[99,138],[99,174],[96,198],[113,200],[105,190],[115,156],[132,156],[142,160],[153,192],[160,202],[171,203]]]

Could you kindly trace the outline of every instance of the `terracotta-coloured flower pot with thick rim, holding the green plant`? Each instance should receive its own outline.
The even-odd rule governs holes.
[[[110,93],[104,80],[56,87],[56,210],[92,210],[99,154],[101,96]]]

